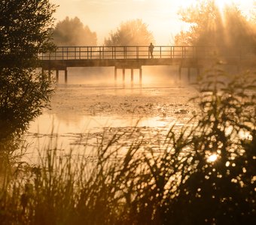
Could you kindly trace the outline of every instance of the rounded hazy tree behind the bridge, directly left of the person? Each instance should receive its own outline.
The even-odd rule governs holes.
[[[148,26],[142,20],[129,20],[121,23],[117,31],[111,32],[105,39],[105,45],[148,45],[154,43],[154,37]]]

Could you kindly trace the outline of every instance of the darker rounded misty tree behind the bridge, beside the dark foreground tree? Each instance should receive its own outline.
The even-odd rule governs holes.
[[[90,28],[84,26],[78,17],[74,19],[66,17],[56,24],[53,30],[53,42],[59,46],[93,46],[97,44],[97,36],[96,32],[90,31]]]

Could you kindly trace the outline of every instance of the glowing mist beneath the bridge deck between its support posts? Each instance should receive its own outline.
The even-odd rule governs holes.
[[[114,67],[67,68],[69,85],[113,87]],[[55,77],[55,71],[53,77]],[[192,72],[193,73],[193,72]],[[183,82],[186,82],[183,70]],[[133,70],[133,85],[139,87],[139,69]],[[178,85],[178,66],[142,66],[142,87]],[[65,83],[64,71],[59,71],[59,84]],[[125,87],[131,86],[131,69],[125,69]],[[123,70],[117,69],[117,87],[123,88]]]

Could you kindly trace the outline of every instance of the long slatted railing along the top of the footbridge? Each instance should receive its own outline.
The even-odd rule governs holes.
[[[215,58],[226,55],[229,58],[249,58],[256,49],[242,47],[233,52],[222,51],[214,46],[154,46],[154,58]],[[148,46],[58,46],[55,52],[38,55],[41,60],[81,59],[140,59],[151,58]]]

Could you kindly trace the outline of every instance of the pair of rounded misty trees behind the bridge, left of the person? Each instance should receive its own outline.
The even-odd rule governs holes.
[[[148,26],[142,20],[128,20],[121,23],[117,31],[111,31],[105,38],[105,45],[145,45],[154,43],[154,37]],[[59,21],[53,30],[53,43],[59,46],[96,46],[96,32],[84,26],[78,17]]]

